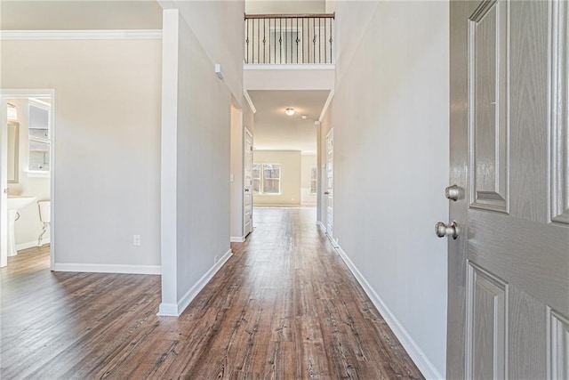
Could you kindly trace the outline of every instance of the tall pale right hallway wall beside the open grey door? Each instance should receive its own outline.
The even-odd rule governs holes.
[[[443,378],[446,239],[433,225],[448,215],[448,4],[339,2],[336,17],[321,133],[324,148],[333,126],[335,238],[423,373]]]

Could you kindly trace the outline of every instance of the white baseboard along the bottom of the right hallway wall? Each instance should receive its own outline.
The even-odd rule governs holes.
[[[428,379],[442,379],[445,376],[442,376],[437,368],[430,362],[430,360],[425,355],[425,352],[422,352],[419,345],[415,343],[413,338],[409,335],[405,327],[399,322],[399,320],[393,315],[393,313],[389,310],[389,307],[381,300],[381,297],[375,293],[373,287],[367,282],[365,277],[362,275],[360,271],[357,270],[356,265],[352,263],[349,259],[348,255],[341,249],[341,247],[336,247],[336,252],[338,255],[341,256],[341,259],[348,265],[349,271],[354,274],[356,277],[357,282],[361,287],[364,288],[365,294],[370,297],[373,302],[373,305],[380,311],[381,316],[387,322],[388,326],[391,328],[399,342],[405,348],[405,351],[409,354],[417,368],[421,371],[423,376]]]

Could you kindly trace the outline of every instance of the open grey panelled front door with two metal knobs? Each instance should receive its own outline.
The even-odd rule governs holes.
[[[567,379],[569,4],[450,7],[447,377]]]

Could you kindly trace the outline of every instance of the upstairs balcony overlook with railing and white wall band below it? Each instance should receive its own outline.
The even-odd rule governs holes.
[[[245,14],[244,89],[333,90],[335,13]]]

